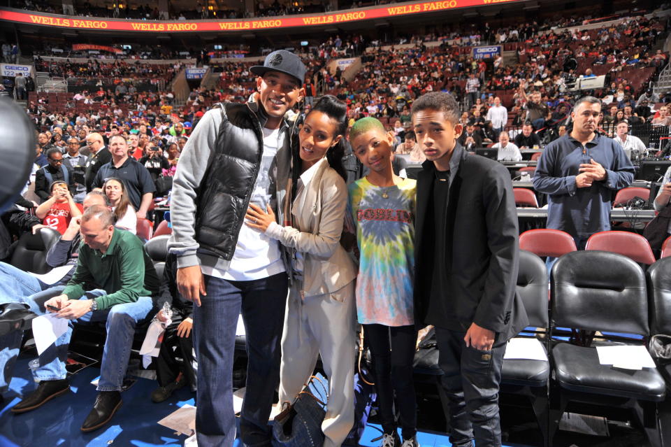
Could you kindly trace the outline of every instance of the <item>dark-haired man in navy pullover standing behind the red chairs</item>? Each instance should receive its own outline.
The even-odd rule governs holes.
[[[610,229],[612,192],[634,180],[622,147],[596,132],[600,112],[599,99],[579,99],[572,131],[549,143],[533,176],[534,189],[548,194],[547,228],[573,236],[579,250],[589,236]]]

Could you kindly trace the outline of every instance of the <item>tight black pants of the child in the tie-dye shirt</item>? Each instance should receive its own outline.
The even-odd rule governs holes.
[[[394,418],[394,392],[396,409],[401,415],[403,439],[414,437],[417,432],[417,400],[412,381],[417,331],[413,326],[389,327],[385,325],[363,325],[370,355],[375,367],[377,409],[384,433],[396,430]]]

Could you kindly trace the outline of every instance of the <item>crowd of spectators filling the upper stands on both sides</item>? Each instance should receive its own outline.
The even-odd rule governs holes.
[[[668,23],[637,16],[590,31],[565,29],[559,32],[547,28],[547,23],[537,22],[514,30],[490,29],[485,24],[482,38],[496,41],[505,36],[503,42],[517,48],[517,59],[507,63],[500,55],[489,61],[473,59],[470,48],[459,43],[453,45],[454,42],[443,41],[438,46],[430,46],[418,39],[412,46],[382,49],[377,43],[366,42],[359,34],[330,37],[310,48],[303,57],[310,79],[305,85],[308,92],[305,104],[310,105],[313,97],[329,92],[348,102],[352,120],[375,116],[389,128],[393,128],[398,120],[396,133],[402,136],[403,125],[410,120],[412,100],[424,92],[447,90],[463,99],[463,124],[474,124],[483,140],[498,141],[498,134],[505,128],[521,132],[522,125],[528,120],[534,132],[540,132],[547,142],[570,126],[575,92],[569,87],[581,76],[593,76],[592,69],[582,71],[581,68],[589,62],[594,71],[598,65],[607,69],[605,87],[591,94],[604,99],[605,104],[616,106],[615,111],[622,115],[620,118],[628,119],[631,124],[658,118],[659,112],[651,110],[650,106],[668,101],[668,95],[647,97],[644,91],[647,81],[668,62],[667,54],[651,50],[659,34],[668,28]],[[459,39],[463,32],[454,30],[447,36]],[[363,67],[352,80],[347,81],[340,69],[333,73],[326,69],[331,58],[357,52],[362,54]],[[182,110],[173,110],[171,92],[138,91],[134,81],[157,76],[169,80],[182,68],[180,64],[159,66],[96,60],[87,63],[45,62],[38,57],[37,71],[89,80],[109,77],[112,82],[75,94],[65,102],[65,110],[60,113],[50,110],[48,98],[31,101],[29,113],[39,126],[71,122],[95,129],[107,118],[108,125],[117,121],[122,129],[123,123],[130,123],[132,127],[134,120],[141,119],[147,120],[147,125],[151,126],[171,113],[181,113],[183,121],[193,124],[198,118],[196,114],[202,114],[212,104],[245,101],[254,92],[255,76],[249,71],[250,65],[252,62],[213,65],[212,70],[221,73],[217,87],[194,90]],[[651,70],[645,71],[649,73],[648,78],[634,85],[630,81],[634,77],[633,70],[642,72],[645,69]],[[614,136],[619,119],[610,110],[604,112],[603,131]],[[510,136],[511,140],[515,133]]]

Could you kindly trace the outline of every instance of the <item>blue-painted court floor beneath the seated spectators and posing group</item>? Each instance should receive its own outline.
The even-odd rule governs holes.
[[[91,381],[100,370],[94,366],[71,376],[69,394],[56,397],[29,413],[15,415],[10,407],[19,402],[20,395],[36,388],[28,369],[28,359],[23,357],[15,365],[10,390],[4,393],[4,402],[0,404],[0,447],[181,447],[187,439],[184,434],[175,434],[157,422],[182,405],[194,405],[194,393],[182,388],[166,402],[154,404],[149,397],[157,383],[145,378],[138,378],[131,388],[122,393],[124,403],[110,425],[93,433],[82,433],[80,425],[96,397],[96,387]],[[361,446],[379,446],[380,441],[370,441],[378,436],[378,430],[368,427],[363,433]],[[437,433],[419,432],[417,439],[423,447],[451,445],[447,437]],[[521,444],[506,445],[524,447]],[[236,442],[236,447],[241,446]]]

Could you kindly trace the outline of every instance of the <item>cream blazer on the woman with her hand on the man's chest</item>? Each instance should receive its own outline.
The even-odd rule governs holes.
[[[283,246],[303,254],[304,297],[332,294],[356,278],[354,262],[340,246],[347,185],[326,158],[318,163],[312,180],[291,206],[291,227],[271,225],[266,230]],[[289,195],[287,200],[291,200]]]

